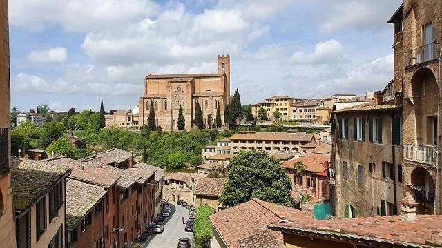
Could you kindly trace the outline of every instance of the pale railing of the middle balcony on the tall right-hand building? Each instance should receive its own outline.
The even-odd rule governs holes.
[[[436,164],[436,145],[403,144],[403,158],[405,160]]]

